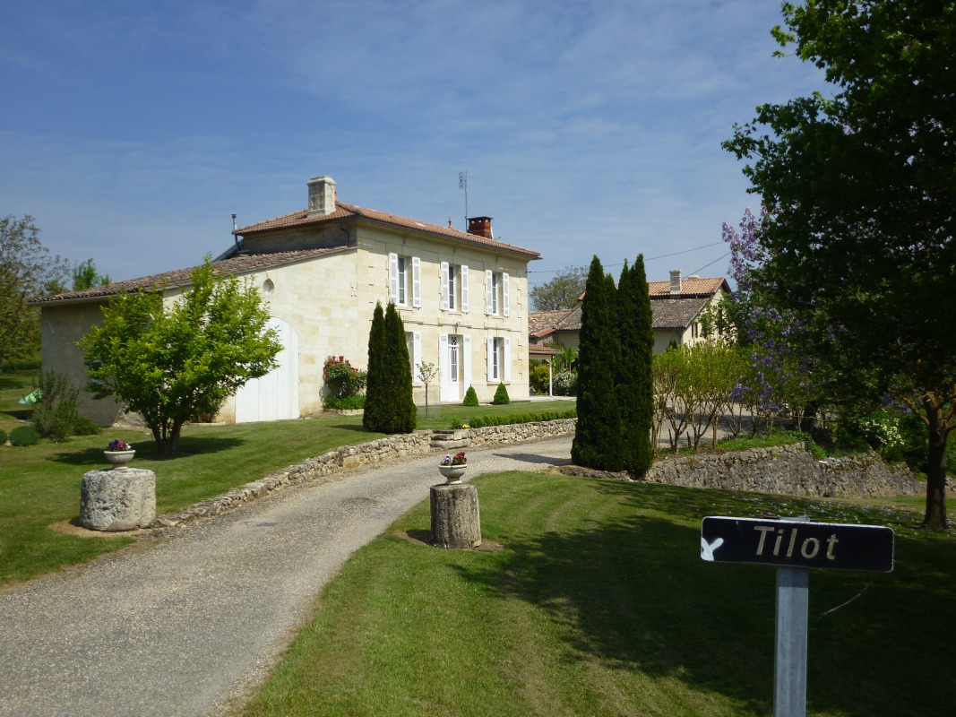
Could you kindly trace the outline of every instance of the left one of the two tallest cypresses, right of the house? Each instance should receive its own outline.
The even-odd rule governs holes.
[[[620,338],[614,279],[605,275],[597,256],[581,303],[577,354],[577,426],[571,458],[578,466],[599,470],[624,467],[616,383]]]

